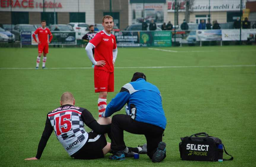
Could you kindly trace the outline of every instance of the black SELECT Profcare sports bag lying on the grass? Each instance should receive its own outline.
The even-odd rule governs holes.
[[[224,145],[217,137],[209,136],[205,132],[196,133],[190,137],[181,137],[179,143],[180,158],[188,161],[226,161],[223,159],[223,148],[227,155]]]

